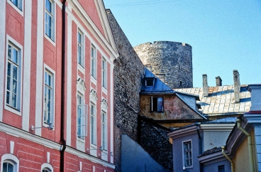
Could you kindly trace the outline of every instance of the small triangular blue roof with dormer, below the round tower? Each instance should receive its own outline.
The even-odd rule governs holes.
[[[155,78],[154,85],[153,86],[146,86],[145,80],[146,78]],[[140,89],[140,92],[143,94],[151,94],[151,93],[174,93],[174,90],[172,90],[169,86],[167,86],[164,82],[162,82],[159,78],[157,78],[150,70],[145,68],[145,75],[142,81],[142,87]]]

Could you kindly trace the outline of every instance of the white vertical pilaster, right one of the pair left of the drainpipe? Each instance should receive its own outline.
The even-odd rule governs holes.
[[[35,96],[35,126],[42,125],[43,113],[43,34],[44,34],[44,1],[37,4],[37,60],[36,60],[36,96]],[[41,136],[42,130],[35,129],[35,134]]]

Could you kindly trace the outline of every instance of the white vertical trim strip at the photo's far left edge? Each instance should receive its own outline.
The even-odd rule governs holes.
[[[6,1],[0,1],[0,64],[5,64],[5,50],[6,50]],[[4,65],[0,65],[0,73],[4,73]],[[6,75],[0,75],[0,80],[4,80]],[[0,85],[0,122],[3,121],[3,109],[4,109],[4,82]]]

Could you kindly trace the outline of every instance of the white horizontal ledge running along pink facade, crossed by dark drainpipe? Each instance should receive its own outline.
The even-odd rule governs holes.
[[[13,135],[17,135],[20,136],[20,138],[22,139],[26,139],[28,141],[32,141],[36,144],[40,144],[55,150],[60,150],[60,144],[56,143],[55,141],[51,141],[49,139],[45,139],[41,136],[37,136],[35,134],[31,134],[27,131],[23,131],[21,129],[18,129],[16,127],[12,127],[10,125],[4,124],[2,122],[0,122],[0,131],[3,131],[6,134],[13,134]],[[82,151],[79,151],[77,149],[74,149],[70,146],[67,146],[67,148],[65,149],[65,152],[69,153],[69,154],[73,154],[75,156],[84,158],[84,159],[88,159],[89,161],[93,161],[94,163],[99,163],[103,166],[108,166],[109,168],[115,168],[115,166],[112,163],[103,161],[99,158],[96,158],[94,156],[90,156],[89,154],[86,154]],[[2,158],[3,159],[3,158]]]

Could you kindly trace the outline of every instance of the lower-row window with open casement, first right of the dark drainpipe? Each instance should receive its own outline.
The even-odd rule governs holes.
[[[77,94],[77,136],[80,139],[84,139],[87,130],[87,117],[85,115],[84,97]]]

